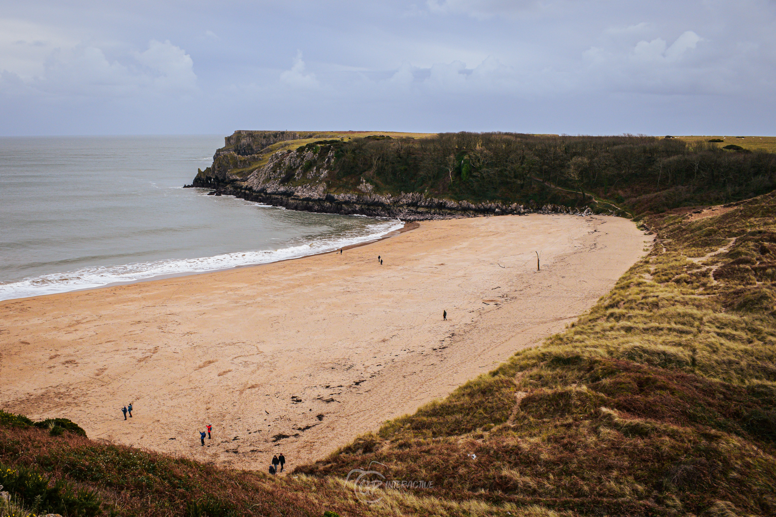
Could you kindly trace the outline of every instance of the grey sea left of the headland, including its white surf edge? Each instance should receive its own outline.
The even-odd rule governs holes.
[[[182,188],[223,136],[0,138],[0,300],[338,249],[397,220]]]

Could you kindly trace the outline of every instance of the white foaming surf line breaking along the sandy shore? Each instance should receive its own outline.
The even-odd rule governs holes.
[[[214,257],[155,260],[121,266],[84,267],[68,273],[44,274],[40,277],[25,278],[23,281],[10,284],[0,284],[0,300],[99,288],[108,284],[126,284],[161,275],[203,273],[230,267],[268,264],[278,260],[325,253],[339,250],[344,246],[369,242],[403,226],[404,223],[398,219],[391,219],[372,226],[370,229],[376,231],[366,235],[321,238],[310,243],[289,246],[280,250],[223,253]]]

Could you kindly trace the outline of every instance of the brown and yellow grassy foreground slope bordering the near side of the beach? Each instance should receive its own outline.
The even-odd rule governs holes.
[[[69,515],[774,515],[776,195],[645,223],[654,249],[565,332],[291,476],[2,415],[0,484]],[[364,503],[353,469],[399,488]]]

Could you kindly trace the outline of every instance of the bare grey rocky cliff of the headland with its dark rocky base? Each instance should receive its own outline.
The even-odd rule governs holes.
[[[468,202],[429,197],[420,192],[376,192],[375,184],[362,176],[344,185],[337,178],[335,162],[343,152],[344,138],[316,140],[273,150],[277,143],[302,143],[320,133],[289,131],[237,131],[227,136],[226,146],[216,151],[213,165],[198,171],[192,187],[213,188],[222,195],[282,206],[306,212],[395,217],[413,221],[484,214],[528,212],[590,213],[563,205],[504,202]],[[339,136],[339,135],[333,135]],[[293,146],[291,146],[293,147]],[[368,171],[364,171],[365,176]]]

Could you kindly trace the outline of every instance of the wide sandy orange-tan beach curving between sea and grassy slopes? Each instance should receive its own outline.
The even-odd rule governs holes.
[[[0,406],[233,467],[283,452],[293,468],[563,329],[647,240],[615,217],[422,222],[342,255],[0,302]]]

